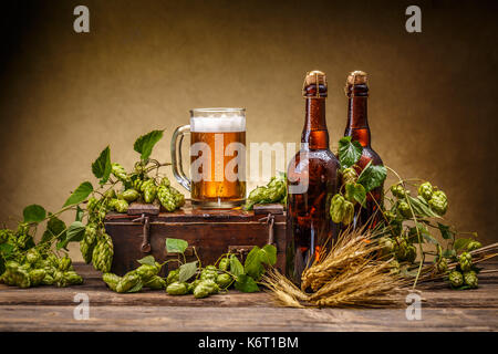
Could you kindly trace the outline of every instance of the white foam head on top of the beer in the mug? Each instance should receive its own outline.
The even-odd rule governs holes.
[[[190,132],[197,133],[235,133],[246,132],[246,117],[243,115],[221,115],[191,117]]]

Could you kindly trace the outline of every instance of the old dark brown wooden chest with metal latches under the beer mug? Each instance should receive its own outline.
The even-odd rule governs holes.
[[[160,212],[153,205],[132,204],[128,215],[108,214],[105,229],[114,243],[112,272],[123,275],[139,266],[136,261],[152,254],[158,262],[177,258],[166,253],[166,238],[186,240],[187,261],[212,264],[226,252],[245,256],[255,246],[277,247],[277,268],[286,269],[286,215],[281,205],[256,206],[253,211],[200,210],[186,206],[175,212]],[[195,250],[194,250],[195,248]],[[163,268],[174,269],[177,262]]]

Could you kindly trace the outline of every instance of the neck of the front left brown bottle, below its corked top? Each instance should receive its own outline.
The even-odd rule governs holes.
[[[325,119],[325,98],[307,98],[301,144],[309,149],[329,149],[329,131]]]

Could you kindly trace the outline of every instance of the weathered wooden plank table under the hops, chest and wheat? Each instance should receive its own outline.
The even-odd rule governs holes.
[[[207,299],[164,291],[117,294],[91,267],[75,269],[85,279],[82,285],[0,284],[0,331],[498,331],[497,273],[481,274],[475,290],[452,291],[444,283],[421,287],[422,320],[408,321],[405,309],[280,308],[264,292],[230,291]],[[77,293],[90,299],[87,320],[74,319]]]

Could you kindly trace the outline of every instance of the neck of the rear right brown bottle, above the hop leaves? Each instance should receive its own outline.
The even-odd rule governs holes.
[[[369,127],[367,100],[369,87],[366,85],[347,86],[347,125],[344,136],[351,136],[360,142],[363,147],[370,147],[371,134]]]

